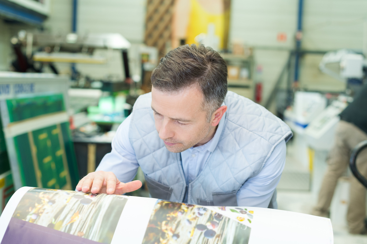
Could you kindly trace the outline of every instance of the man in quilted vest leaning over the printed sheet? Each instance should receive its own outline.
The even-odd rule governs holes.
[[[221,55],[203,45],[180,46],[160,60],[151,80],[152,93],[138,98],[111,153],[77,190],[134,191],[141,182],[130,181],[140,166],[154,198],[276,207],[292,133],[262,106],[227,94]]]

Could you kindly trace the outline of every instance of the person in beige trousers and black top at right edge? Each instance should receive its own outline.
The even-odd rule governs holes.
[[[331,199],[339,177],[349,165],[350,153],[358,143],[367,140],[367,85],[364,85],[354,101],[340,114],[335,131],[334,145],[327,158],[327,170],[321,184],[319,199],[312,214],[329,217]],[[358,155],[356,165],[367,177],[367,150]],[[366,188],[355,177],[350,178],[349,205],[347,211],[348,229],[351,234],[367,234]]]

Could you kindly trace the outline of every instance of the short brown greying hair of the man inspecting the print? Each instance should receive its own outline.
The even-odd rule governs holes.
[[[226,61],[219,52],[204,45],[186,44],[161,58],[150,79],[155,89],[164,92],[199,87],[204,95],[203,111],[210,121],[226,97],[227,73]]]

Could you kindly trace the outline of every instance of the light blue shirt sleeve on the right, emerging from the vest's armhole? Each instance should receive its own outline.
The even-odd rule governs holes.
[[[268,207],[286,163],[287,147],[283,140],[273,150],[264,168],[248,179],[237,192],[238,206]]]

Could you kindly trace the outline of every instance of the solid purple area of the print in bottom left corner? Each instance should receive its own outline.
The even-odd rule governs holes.
[[[74,236],[21,219],[11,218],[1,244],[97,244],[83,237]]]

